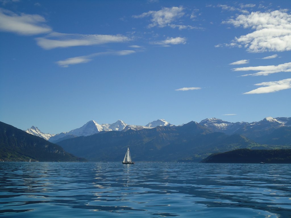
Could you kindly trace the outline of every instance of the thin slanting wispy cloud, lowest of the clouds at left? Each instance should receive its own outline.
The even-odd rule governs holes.
[[[87,63],[93,60],[92,58],[96,56],[102,56],[102,55],[118,55],[118,56],[124,56],[124,55],[129,55],[135,53],[133,50],[121,50],[121,51],[106,51],[106,52],[98,52],[98,53],[93,53],[90,55],[86,56],[78,56],[78,57],[73,57],[73,58],[67,58],[65,60],[59,60],[56,63],[60,67],[68,67],[69,65],[75,65],[75,64],[82,64],[82,63]]]

